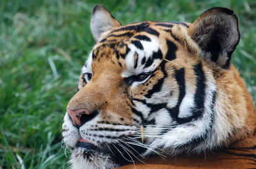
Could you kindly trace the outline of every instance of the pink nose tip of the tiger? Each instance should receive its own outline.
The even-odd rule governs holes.
[[[67,108],[67,113],[69,113],[69,116],[72,118],[73,124],[75,126],[81,126],[81,117],[82,115],[86,114],[89,115],[90,112],[87,109],[77,109],[72,110]]]

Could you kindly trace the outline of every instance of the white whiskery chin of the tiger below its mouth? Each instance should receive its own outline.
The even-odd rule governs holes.
[[[72,168],[115,168],[121,164],[114,162],[113,156],[108,152],[100,152],[97,149],[76,147],[72,150],[69,163]]]

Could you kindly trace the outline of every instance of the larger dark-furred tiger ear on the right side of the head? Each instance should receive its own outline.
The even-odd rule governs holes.
[[[222,68],[229,67],[231,55],[240,39],[237,16],[233,10],[213,7],[203,12],[190,25],[188,34],[205,53],[202,57]]]

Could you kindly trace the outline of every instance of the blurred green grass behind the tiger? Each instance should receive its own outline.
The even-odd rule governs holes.
[[[0,1],[0,168],[66,168],[61,125],[94,44],[90,13],[102,4],[123,24],[193,22],[214,6],[233,9],[241,41],[233,54],[256,101],[256,1]],[[69,156],[69,152],[67,152]]]

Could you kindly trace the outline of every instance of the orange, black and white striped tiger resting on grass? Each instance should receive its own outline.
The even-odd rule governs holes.
[[[237,15],[121,25],[92,10],[95,46],[67,104],[72,168],[255,168],[252,97],[231,64]]]

